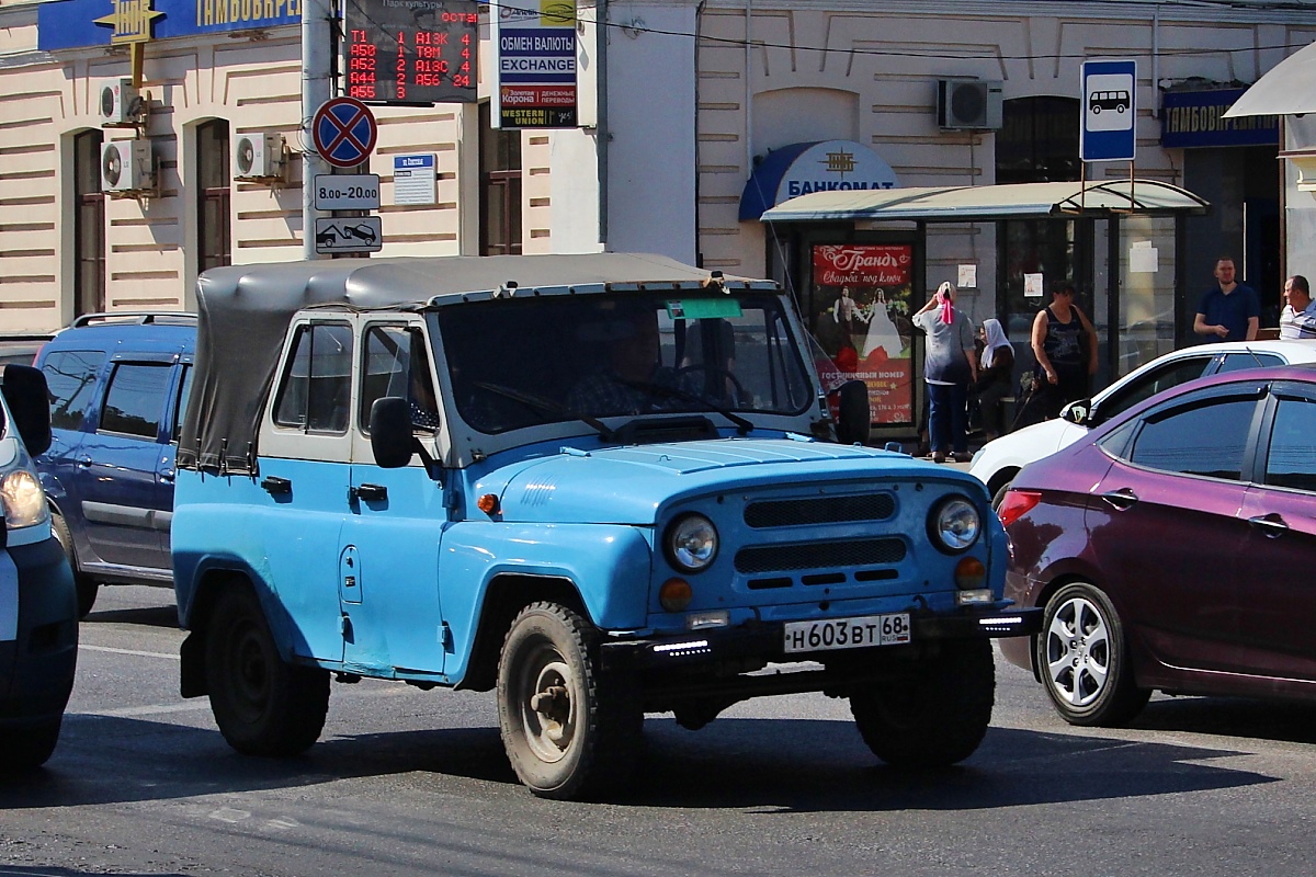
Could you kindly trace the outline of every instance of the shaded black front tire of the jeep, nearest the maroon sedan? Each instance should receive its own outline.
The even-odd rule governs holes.
[[[986,639],[948,640],[907,678],[850,696],[850,713],[873,753],[899,768],[937,768],[978,749],[996,699]]]

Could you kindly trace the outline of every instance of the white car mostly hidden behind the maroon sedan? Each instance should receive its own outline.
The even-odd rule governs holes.
[[[1071,408],[1088,409],[1086,418],[1075,418],[1083,419],[1082,426],[1058,417],[1003,435],[974,455],[969,472],[987,485],[992,504],[998,505],[1015,475],[1026,464],[1073,444],[1092,426],[1163,389],[1203,375],[1311,362],[1316,362],[1316,339],[1225,341],[1175,350],[1133,369],[1091,401],[1074,402]]]

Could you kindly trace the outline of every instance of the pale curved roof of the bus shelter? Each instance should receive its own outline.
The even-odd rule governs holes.
[[[1111,213],[1205,213],[1208,202],[1158,180],[933,185],[813,192],[763,213],[763,222],[909,220],[969,222]]]

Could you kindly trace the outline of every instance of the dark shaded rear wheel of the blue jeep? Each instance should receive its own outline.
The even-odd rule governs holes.
[[[296,755],[324,728],[329,673],[279,656],[255,594],[229,586],[205,635],[205,678],[220,732],[238,752]]]

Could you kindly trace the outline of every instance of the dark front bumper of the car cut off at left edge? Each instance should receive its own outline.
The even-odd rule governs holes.
[[[17,571],[17,625],[0,640],[0,726],[50,722],[64,711],[78,664],[72,573],[53,538],[3,551]]]

